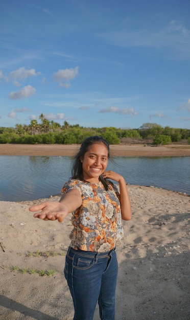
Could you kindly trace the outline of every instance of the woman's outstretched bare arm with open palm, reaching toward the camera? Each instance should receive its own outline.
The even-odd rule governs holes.
[[[36,212],[35,218],[42,220],[58,220],[62,222],[68,213],[75,211],[82,204],[82,197],[77,189],[71,189],[64,193],[59,202],[45,201],[29,208],[30,211]],[[37,212],[41,210],[40,212]]]

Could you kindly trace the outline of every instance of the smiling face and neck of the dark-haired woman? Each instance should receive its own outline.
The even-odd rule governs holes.
[[[108,150],[103,143],[94,143],[81,157],[83,179],[92,183],[99,182],[99,176],[106,170]]]

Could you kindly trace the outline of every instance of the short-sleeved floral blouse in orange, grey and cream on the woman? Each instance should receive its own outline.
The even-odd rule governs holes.
[[[120,194],[109,181],[108,191],[102,182],[76,179],[68,180],[62,193],[77,189],[82,196],[81,206],[72,213],[73,230],[69,235],[74,249],[92,252],[107,252],[123,238]]]

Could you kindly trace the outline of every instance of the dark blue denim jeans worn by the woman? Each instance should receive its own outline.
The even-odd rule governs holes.
[[[64,275],[73,298],[74,320],[93,320],[97,301],[101,320],[114,320],[117,271],[114,249],[97,253],[69,247]]]

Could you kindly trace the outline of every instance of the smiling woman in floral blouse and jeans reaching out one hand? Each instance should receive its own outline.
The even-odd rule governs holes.
[[[105,171],[109,158],[106,140],[100,136],[85,139],[60,201],[46,201],[29,208],[41,210],[34,214],[35,218],[59,222],[73,213],[74,228],[64,275],[73,298],[74,320],[92,320],[97,301],[102,320],[114,320],[115,316],[115,245],[123,238],[121,219],[131,219],[131,203],[123,176]],[[120,194],[109,179],[118,182]]]

